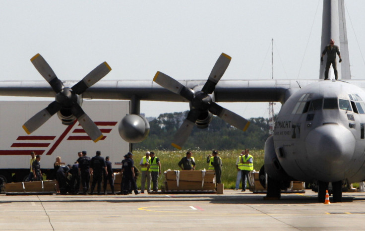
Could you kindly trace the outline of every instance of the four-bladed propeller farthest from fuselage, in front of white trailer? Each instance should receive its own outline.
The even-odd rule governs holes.
[[[108,63],[101,63],[90,71],[90,73],[81,81],[76,83],[73,87],[68,88],[63,86],[61,80],[57,78],[51,66],[40,54],[35,55],[30,61],[56,92],[56,100],[24,123],[23,129],[25,132],[27,134],[32,133],[61,109],[68,109],[72,115],[77,118],[82,128],[94,142],[103,138],[103,133],[93,120],[91,120],[91,118],[82,110],[81,106],[77,103],[77,100],[80,94],[85,92],[89,87],[94,85],[112,70]]]

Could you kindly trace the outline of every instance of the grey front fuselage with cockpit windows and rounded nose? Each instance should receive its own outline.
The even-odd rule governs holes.
[[[274,147],[285,172],[315,182],[365,178],[365,92],[325,80],[298,90],[280,110]]]

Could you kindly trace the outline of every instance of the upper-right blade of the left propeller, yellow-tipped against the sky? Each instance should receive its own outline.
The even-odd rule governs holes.
[[[90,73],[88,73],[82,80],[76,83],[73,87],[71,87],[72,91],[76,94],[82,94],[86,89],[94,85],[104,76],[106,76],[112,68],[110,68],[107,62],[103,62],[97,67],[95,67]]]

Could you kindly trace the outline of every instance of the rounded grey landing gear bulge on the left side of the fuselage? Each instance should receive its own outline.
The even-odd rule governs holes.
[[[293,180],[280,165],[275,153],[274,137],[270,136],[265,142],[265,172],[277,181]]]

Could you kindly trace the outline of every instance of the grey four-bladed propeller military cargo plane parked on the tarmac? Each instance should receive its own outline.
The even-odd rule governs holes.
[[[193,126],[206,128],[213,115],[238,129],[247,128],[245,118],[217,102],[280,102],[282,108],[274,134],[265,143],[265,164],[260,171],[267,197],[280,198],[283,186],[300,180],[315,184],[318,200],[324,201],[331,182],[333,200],[339,202],[343,187],[365,179],[365,81],[351,80],[343,0],[323,1],[321,49],[332,38],[339,41],[344,60],[338,65],[337,81],[323,80],[324,66],[318,80],[221,80],[231,60],[223,53],[207,81],[177,81],[160,71],[153,81],[99,81],[111,70],[104,62],[78,83],[61,82],[45,59],[36,55],[32,62],[48,83],[0,82],[0,95],[55,97],[56,93],[56,100],[23,128],[31,133],[57,113],[65,124],[84,119],[80,123],[95,142],[102,134],[82,111],[82,98],[130,100],[130,114],[119,125],[122,138],[130,143],[148,135],[149,124],[139,115],[141,100],[188,102],[190,111],[172,140],[176,148],[183,147]]]

